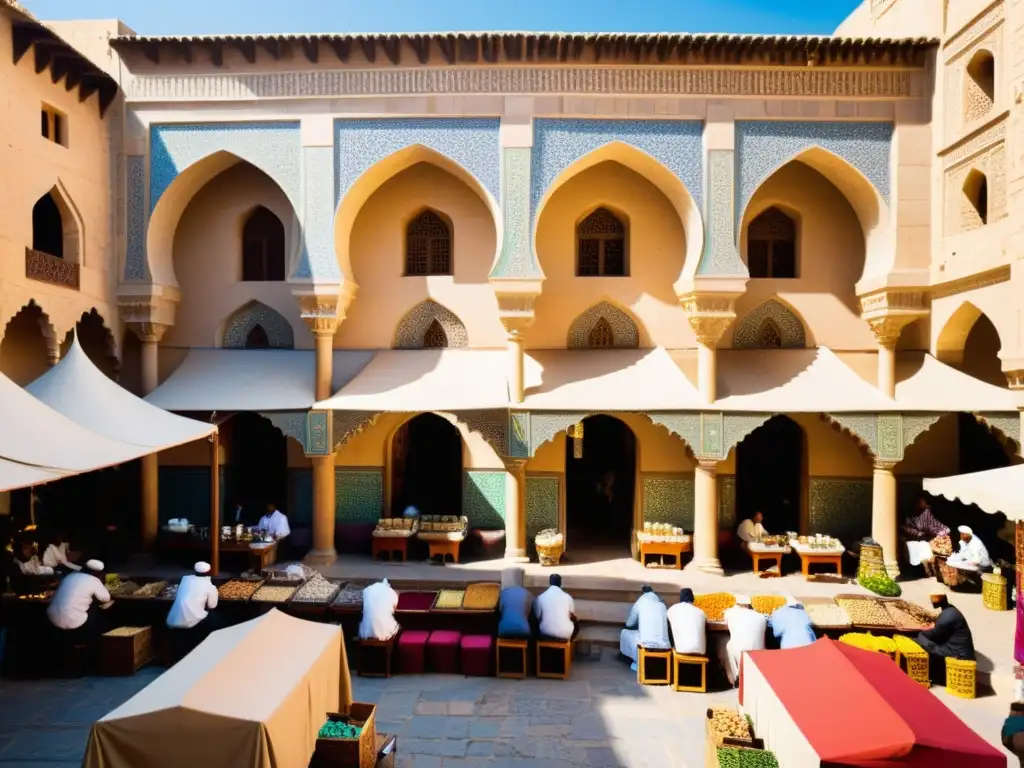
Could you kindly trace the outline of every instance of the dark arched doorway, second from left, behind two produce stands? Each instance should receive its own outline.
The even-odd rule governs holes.
[[[462,514],[462,435],[436,414],[406,422],[391,442],[391,512]]]

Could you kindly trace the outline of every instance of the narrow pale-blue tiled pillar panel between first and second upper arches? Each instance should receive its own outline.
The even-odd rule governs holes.
[[[334,250],[334,150],[302,147],[302,253],[296,278],[337,280],[341,276]]]

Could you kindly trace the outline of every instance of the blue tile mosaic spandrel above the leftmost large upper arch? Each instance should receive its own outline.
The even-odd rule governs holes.
[[[301,210],[302,152],[298,123],[201,123],[150,129],[150,210],[178,174],[218,152],[252,163]]]

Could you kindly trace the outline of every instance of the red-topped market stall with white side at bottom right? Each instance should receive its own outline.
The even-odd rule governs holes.
[[[743,654],[739,702],[779,768],[1007,766],[884,653],[833,640]]]

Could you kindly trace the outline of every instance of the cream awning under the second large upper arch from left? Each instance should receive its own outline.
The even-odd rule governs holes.
[[[508,352],[389,349],[316,403],[332,411],[415,413],[508,408]]]

